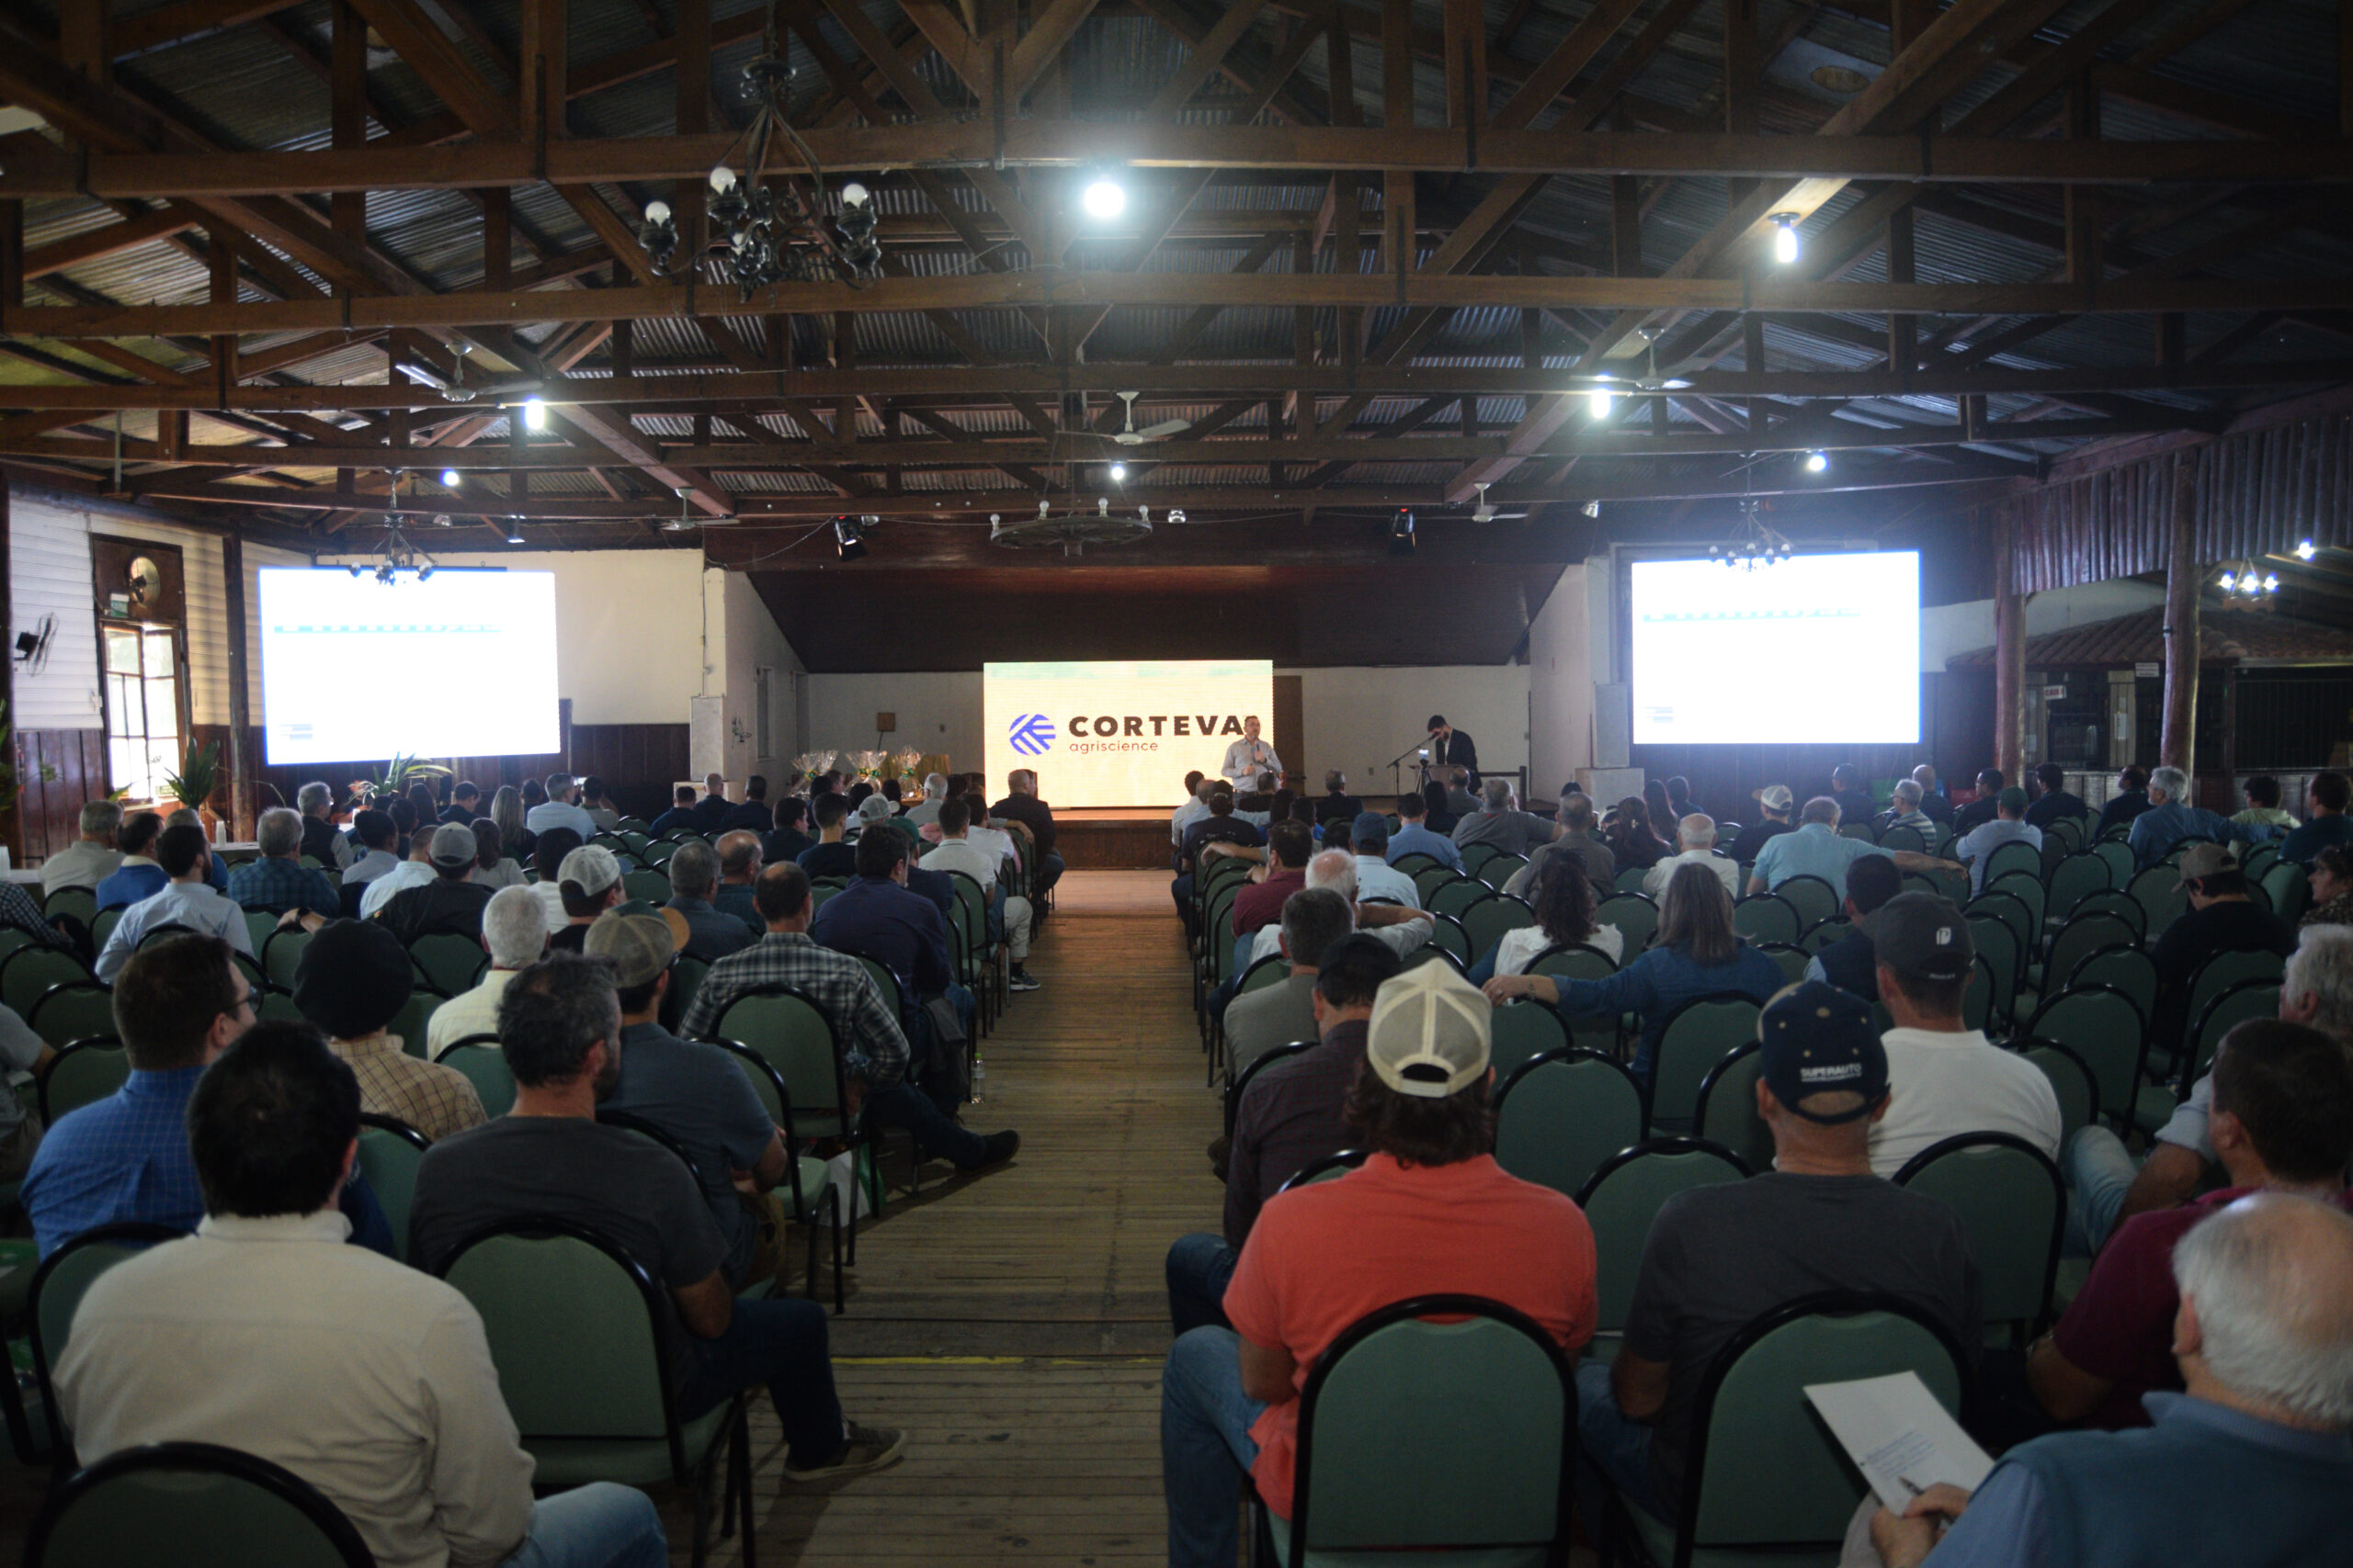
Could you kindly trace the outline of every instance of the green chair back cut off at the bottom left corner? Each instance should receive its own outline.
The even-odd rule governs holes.
[[[369,1568],[367,1542],[289,1469],[214,1443],[125,1448],[64,1481],[26,1568]]]

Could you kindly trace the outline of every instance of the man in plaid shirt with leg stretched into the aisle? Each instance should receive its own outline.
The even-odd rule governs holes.
[[[904,1126],[929,1157],[958,1171],[976,1171],[1012,1159],[1021,1133],[981,1138],[953,1121],[927,1093],[906,1081],[906,1034],[892,1018],[873,976],[856,959],[809,940],[809,875],[791,860],[769,865],[753,884],[753,903],[767,936],[711,966],[680,1034],[718,1039],[727,1006],[748,992],[791,987],[833,1020],[842,1046],[842,1072],[866,1088],[866,1114],[882,1126]]]

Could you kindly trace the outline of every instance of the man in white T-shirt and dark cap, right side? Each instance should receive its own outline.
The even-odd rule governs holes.
[[[2059,1159],[2052,1081],[1962,1023],[1977,947],[1953,900],[1897,893],[1871,917],[1871,952],[1894,1020],[1880,1037],[1892,1100],[1871,1124],[1871,1168],[1894,1175],[1913,1154],[1962,1133],[2009,1133]]]

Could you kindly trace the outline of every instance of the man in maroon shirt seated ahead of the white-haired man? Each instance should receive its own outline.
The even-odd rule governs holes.
[[[2141,1394],[2179,1389],[2174,1244],[2249,1192],[2294,1192],[2353,1208],[2353,1056],[2301,1023],[2249,1018],[2214,1056],[2214,1154],[2231,1187],[2134,1215],[2101,1248],[2066,1316],[2026,1359],[2026,1382],[2057,1422],[2146,1427]]]

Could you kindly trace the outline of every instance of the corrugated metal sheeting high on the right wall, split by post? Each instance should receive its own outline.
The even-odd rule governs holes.
[[[2200,562],[2285,555],[2299,541],[2353,545],[2353,414],[2224,435],[2184,449],[2198,463]],[[2021,592],[2165,571],[2174,454],[2122,463],[2000,501]]]

